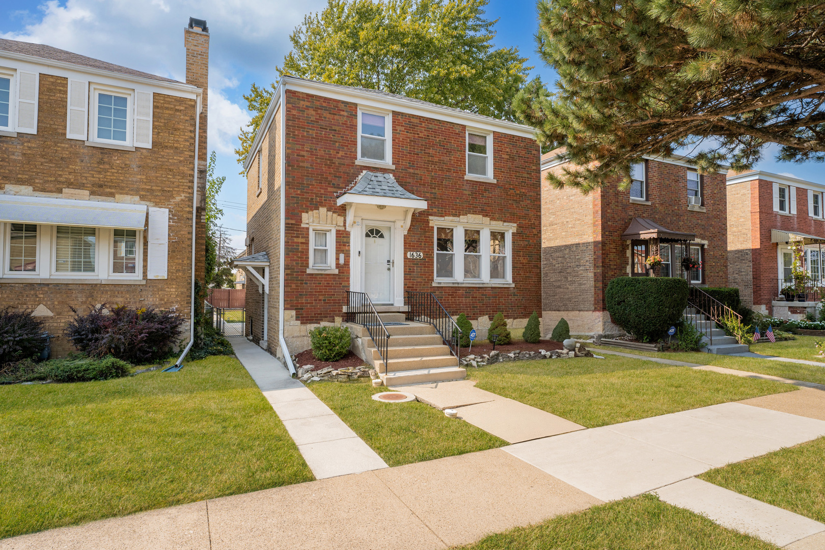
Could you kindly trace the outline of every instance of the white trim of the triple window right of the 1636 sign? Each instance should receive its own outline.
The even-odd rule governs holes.
[[[438,228],[453,230],[453,276],[439,277],[436,273],[436,253],[438,247]],[[432,226],[432,280],[446,283],[460,284],[512,284],[512,229],[506,227],[490,227],[486,225],[438,223]],[[481,279],[464,279],[464,229],[479,229],[481,247]],[[507,251],[507,279],[490,279],[490,231],[504,233],[505,250]]]

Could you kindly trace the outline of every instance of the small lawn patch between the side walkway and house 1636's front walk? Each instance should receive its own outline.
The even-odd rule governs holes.
[[[373,388],[369,379],[310,383],[308,388],[389,466],[507,444],[474,425],[447,418],[443,412],[421,402],[377,402],[371,396],[385,392],[387,388]]]

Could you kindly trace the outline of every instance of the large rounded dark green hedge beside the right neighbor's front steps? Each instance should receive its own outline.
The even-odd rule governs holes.
[[[607,285],[607,311],[640,341],[658,341],[681,322],[687,281],[675,277],[617,277]]]

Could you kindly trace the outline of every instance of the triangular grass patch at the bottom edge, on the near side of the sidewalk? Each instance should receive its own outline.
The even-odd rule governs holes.
[[[493,534],[464,550],[775,550],[710,519],[642,495]]]

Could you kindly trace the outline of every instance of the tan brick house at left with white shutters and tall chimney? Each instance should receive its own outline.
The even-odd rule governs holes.
[[[191,319],[204,276],[209,38],[190,21],[186,83],[0,40],[0,309],[34,310],[53,355],[72,350],[71,308]]]

